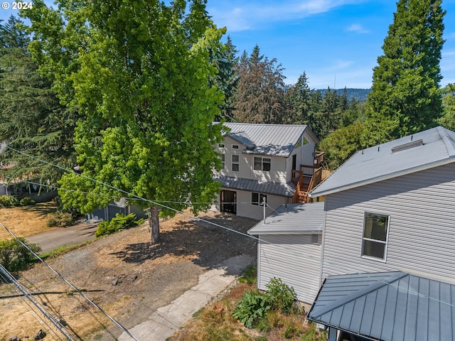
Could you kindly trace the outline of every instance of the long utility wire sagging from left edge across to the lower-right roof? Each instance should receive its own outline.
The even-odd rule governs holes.
[[[116,190],[116,191],[118,191],[118,192],[120,192],[120,193],[124,193],[124,194],[126,194],[126,195],[131,195],[132,197],[137,198],[138,200],[144,200],[144,201],[146,201],[146,202],[150,202],[152,205],[164,207],[164,208],[166,208],[166,209],[168,209],[168,210],[171,210],[171,211],[173,211],[173,212],[178,212],[178,213],[181,213],[182,215],[186,215],[186,216],[188,216],[188,217],[192,217],[193,219],[196,219],[196,220],[198,220],[198,221],[205,222],[205,223],[208,223],[208,224],[213,224],[213,225],[216,226],[216,227],[220,227],[220,228],[222,228],[222,229],[226,229],[226,230],[228,230],[228,231],[230,231],[230,232],[235,232],[235,233],[240,234],[240,235],[243,235],[243,236],[245,236],[245,237],[252,238],[252,239],[256,239],[257,241],[262,242],[262,243],[272,244],[271,242],[264,241],[263,239],[259,239],[258,237],[251,236],[250,234],[245,234],[245,233],[240,232],[240,231],[237,231],[237,230],[235,230],[235,229],[231,229],[231,228],[229,228],[229,227],[225,227],[225,226],[223,226],[223,225],[216,224],[216,223],[210,222],[210,221],[208,221],[208,220],[204,220],[204,219],[202,219],[202,218],[200,218],[200,217],[196,217],[196,216],[193,216],[193,215],[189,215],[189,214],[186,213],[186,212],[183,212],[183,211],[180,211],[180,210],[176,210],[176,209],[173,208],[173,207],[169,207],[169,206],[167,206],[167,205],[161,204],[161,203],[156,202],[156,201],[154,201],[154,200],[149,200],[149,199],[146,199],[146,198],[143,198],[143,197],[139,197],[138,195],[135,195],[135,194],[133,194],[133,193],[129,193],[129,192],[125,191],[125,190],[121,190],[121,189],[116,188],[116,187],[114,187],[114,186],[112,186],[112,185],[109,185],[108,183],[104,183],[104,182],[102,182],[102,181],[100,181],[100,180],[96,180],[96,179],[94,179],[94,178],[90,178],[90,177],[88,177],[87,175],[82,175],[82,174],[76,173],[75,171],[69,170],[69,169],[67,169],[67,168],[63,168],[62,166],[58,166],[58,165],[55,165],[55,164],[50,163],[50,162],[48,162],[48,161],[41,160],[40,158],[36,158],[35,156],[31,156],[31,155],[29,155],[29,154],[27,154],[27,153],[23,153],[22,151],[18,151],[18,150],[14,149],[14,148],[11,148],[10,146],[7,146],[6,144],[0,143],[0,145],[6,146],[6,148],[11,149],[12,151],[16,151],[16,153],[20,153],[20,154],[22,154],[23,156],[28,156],[28,157],[30,157],[30,158],[33,158],[33,159],[36,160],[36,161],[41,161],[41,162],[43,162],[43,163],[45,163],[45,164],[48,164],[48,165],[53,166],[53,167],[55,167],[55,168],[58,168],[58,169],[60,169],[60,170],[62,170],[62,171],[67,171],[67,172],[69,172],[69,173],[73,173],[73,174],[75,174],[75,175],[79,175],[79,176],[81,176],[82,178],[86,178],[87,180],[94,181],[95,183],[99,183],[100,185],[105,185],[107,188],[111,188],[112,190]],[[304,256],[305,256],[305,254],[304,254]],[[310,259],[316,259],[316,257],[313,257],[313,256],[309,256],[309,258],[310,258]],[[346,267],[344,267],[344,266],[340,266],[339,264],[331,264],[330,262],[327,262],[326,264],[331,265],[331,266],[336,266],[338,269],[342,269],[343,271],[347,271],[348,274],[349,274],[349,273],[351,273],[351,274],[353,273],[353,271],[352,271],[351,269],[348,269],[348,268],[346,268]],[[355,273],[358,274],[357,272],[355,272]],[[373,276],[368,276],[368,274],[363,274],[363,275],[365,275],[365,276],[367,276],[367,277],[369,277],[370,279],[373,279],[373,280],[375,280],[375,281],[382,282],[382,283],[384,283],[384,284],[386,284],[386,285],[394,286],[394,287],[400,288],[400,289],[402,289],[402,290],[404,290],[404,291],[408,291],[409,293],[417,294],[417,295],[419,295],[420,297],[427,297],[428,299],[432,299],[432,300],[434,300],[434,301],[438,301],[439,303],[444,303],[444,304],[446,304],[446,305],[450,305],[450,306],[452,306],[452,307],[455,307],[455,305],[452,305],[451,303],[444,302],[444,301],[440,301],[440,300],[437,299],[437,298],[432,298],[432,297],[429,297],[429,296],[424,296],[424,295],[422,295],[422,294],[420,294],[420,293],[416,293],[415,291],[410,290],[409,288],[401,288],[401,287],[399,287],[399,286],[395,286],[395,284],[387,283],[387,282],[385,282],[385,281],[382,281],[381,279],[374,278]]]

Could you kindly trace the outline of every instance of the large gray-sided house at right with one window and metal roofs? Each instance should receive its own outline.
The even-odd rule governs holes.
[[[325,197],[312,279],[325,283],[309,320],[328,326],[329,340],[455,340],[454,131],[358,151],[309,195]],[[304,266],[294,276],[308,281]]]

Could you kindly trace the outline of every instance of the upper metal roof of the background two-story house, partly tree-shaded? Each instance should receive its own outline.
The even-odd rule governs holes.
[[[304,124],[248,124],[223,123],[230,129],[225,136],[243,144],[245,154],[288,157],[304,132],[318,142],[316,136]]]

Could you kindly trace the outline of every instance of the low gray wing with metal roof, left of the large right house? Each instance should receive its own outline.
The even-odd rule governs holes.
[[[267,290],[271,278],[281,278],[299,301],[313,303],[321,286],[323,208],[323,202],[283,205],[248,231],[259,236],[259,289]]]

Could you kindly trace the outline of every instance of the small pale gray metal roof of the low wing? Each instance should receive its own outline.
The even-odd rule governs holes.
[[[324,203],[282,205],[248,234],[319,234],[324,224]]]

